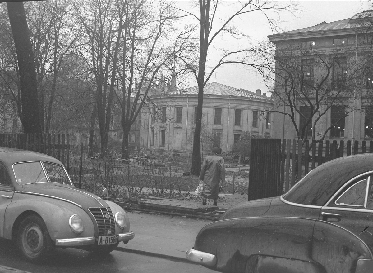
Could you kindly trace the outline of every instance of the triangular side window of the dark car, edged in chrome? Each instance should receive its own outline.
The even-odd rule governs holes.
[[[363,207],[365,202],[368,178],[362,179],[352,186],[336,200],[336,205]]]

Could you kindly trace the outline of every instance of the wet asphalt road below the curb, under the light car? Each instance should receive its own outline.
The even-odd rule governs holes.
[[[185,272],[213,273],[198,264],[184,263],[157,257],[113,251],[110,254],[93,254],[73,248],[56,249],[50,259],[42,264],[23,261],[16,247],[7,240],[0,240],[0,265],[31,273],[101,273],[101,272]],[[17,273],[9,270],[8,272]],[[8,273],[4,270],[4,273]],[[0,273],[1,267],[0,267]]]

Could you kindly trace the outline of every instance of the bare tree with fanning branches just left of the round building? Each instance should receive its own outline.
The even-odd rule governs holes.
[[[122,107],[123,158],[128,155],[128,135],[137,116],[146,105],[151,91],[161,90],[159,79],[163,71],[178,71],[178,59],[184,51],[194,48],[192,29],[175,28],[178,15],[162,1],[123,1],[125,10],[122,31],[122,66],[119,68],[122,92],[118,94]]]

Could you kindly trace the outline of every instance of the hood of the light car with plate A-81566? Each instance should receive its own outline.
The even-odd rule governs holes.
[[[108,206],[103,199],[93,193],[72,186],[54,183],[27,184],[22,187],[21,193],[46,196],[74,203],[81,206],[85,211],[90,207]]]

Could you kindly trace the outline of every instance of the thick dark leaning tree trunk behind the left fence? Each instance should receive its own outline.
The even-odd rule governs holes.
[[[19,67],[23,131],[41,133],[34,54],[23,2],[8,2],[7,9]]]

